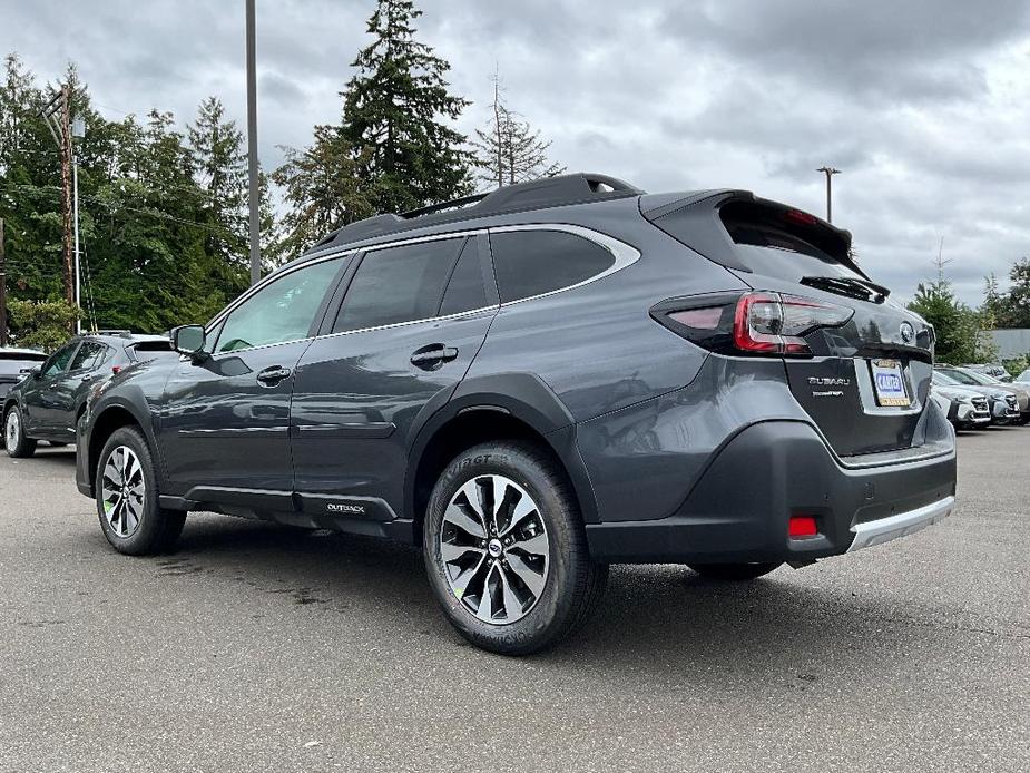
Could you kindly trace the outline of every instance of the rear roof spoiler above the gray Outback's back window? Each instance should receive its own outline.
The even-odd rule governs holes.
[[[850,231],[837,228],[821,217],[795,207],[758,198],[751,190],[702,190],[690,194],[645,195],[640,197],[640,214],[674,238],[715,263],[736,271],[751,272],[739,260],[733,238],[723,219],[724,209],[735,209],[734,216],[756,219],[775,218],[781,227],[832,255],[843,265],[864,276],[851,255]],[[663,227],[663,218],[675,217],[676,233]],[[684,234],[689,234],[687,241]]]

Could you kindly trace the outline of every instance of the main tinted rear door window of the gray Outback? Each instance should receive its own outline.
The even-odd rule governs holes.
[[[448,238],[365,253],[333,332],[436,316],[443,287],[464,243],[464,237]]]

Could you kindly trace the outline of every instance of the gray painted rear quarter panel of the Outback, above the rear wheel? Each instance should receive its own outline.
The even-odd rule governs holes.
[[[548,215],[619,239],[640,258],[581,287],[502,305],[468,378],[533,373],[576,422],[690,383],[707,353],[656,323],[649,309],[675,295],[746,285],[650,225],[635,199]]]

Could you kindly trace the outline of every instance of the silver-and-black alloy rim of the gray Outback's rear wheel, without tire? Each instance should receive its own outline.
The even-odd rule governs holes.
[[[440,555],[451,593],[484,623],[522,619],[547,585],[550,540],[540,509],[502,474],[473,478],[443,512]]]

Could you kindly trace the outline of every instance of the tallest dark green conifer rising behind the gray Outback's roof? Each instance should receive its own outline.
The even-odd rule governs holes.
[[[449,120],[471,102],[452,95],[450,65],[415,40],[422,12],[412,0],[379,0],[369,19],[374,40],[352,62],[341,136],[361,160],[372,207],[403,212],[471,190],[471,154]],[[367,151],[367,158],[365,154]]]

